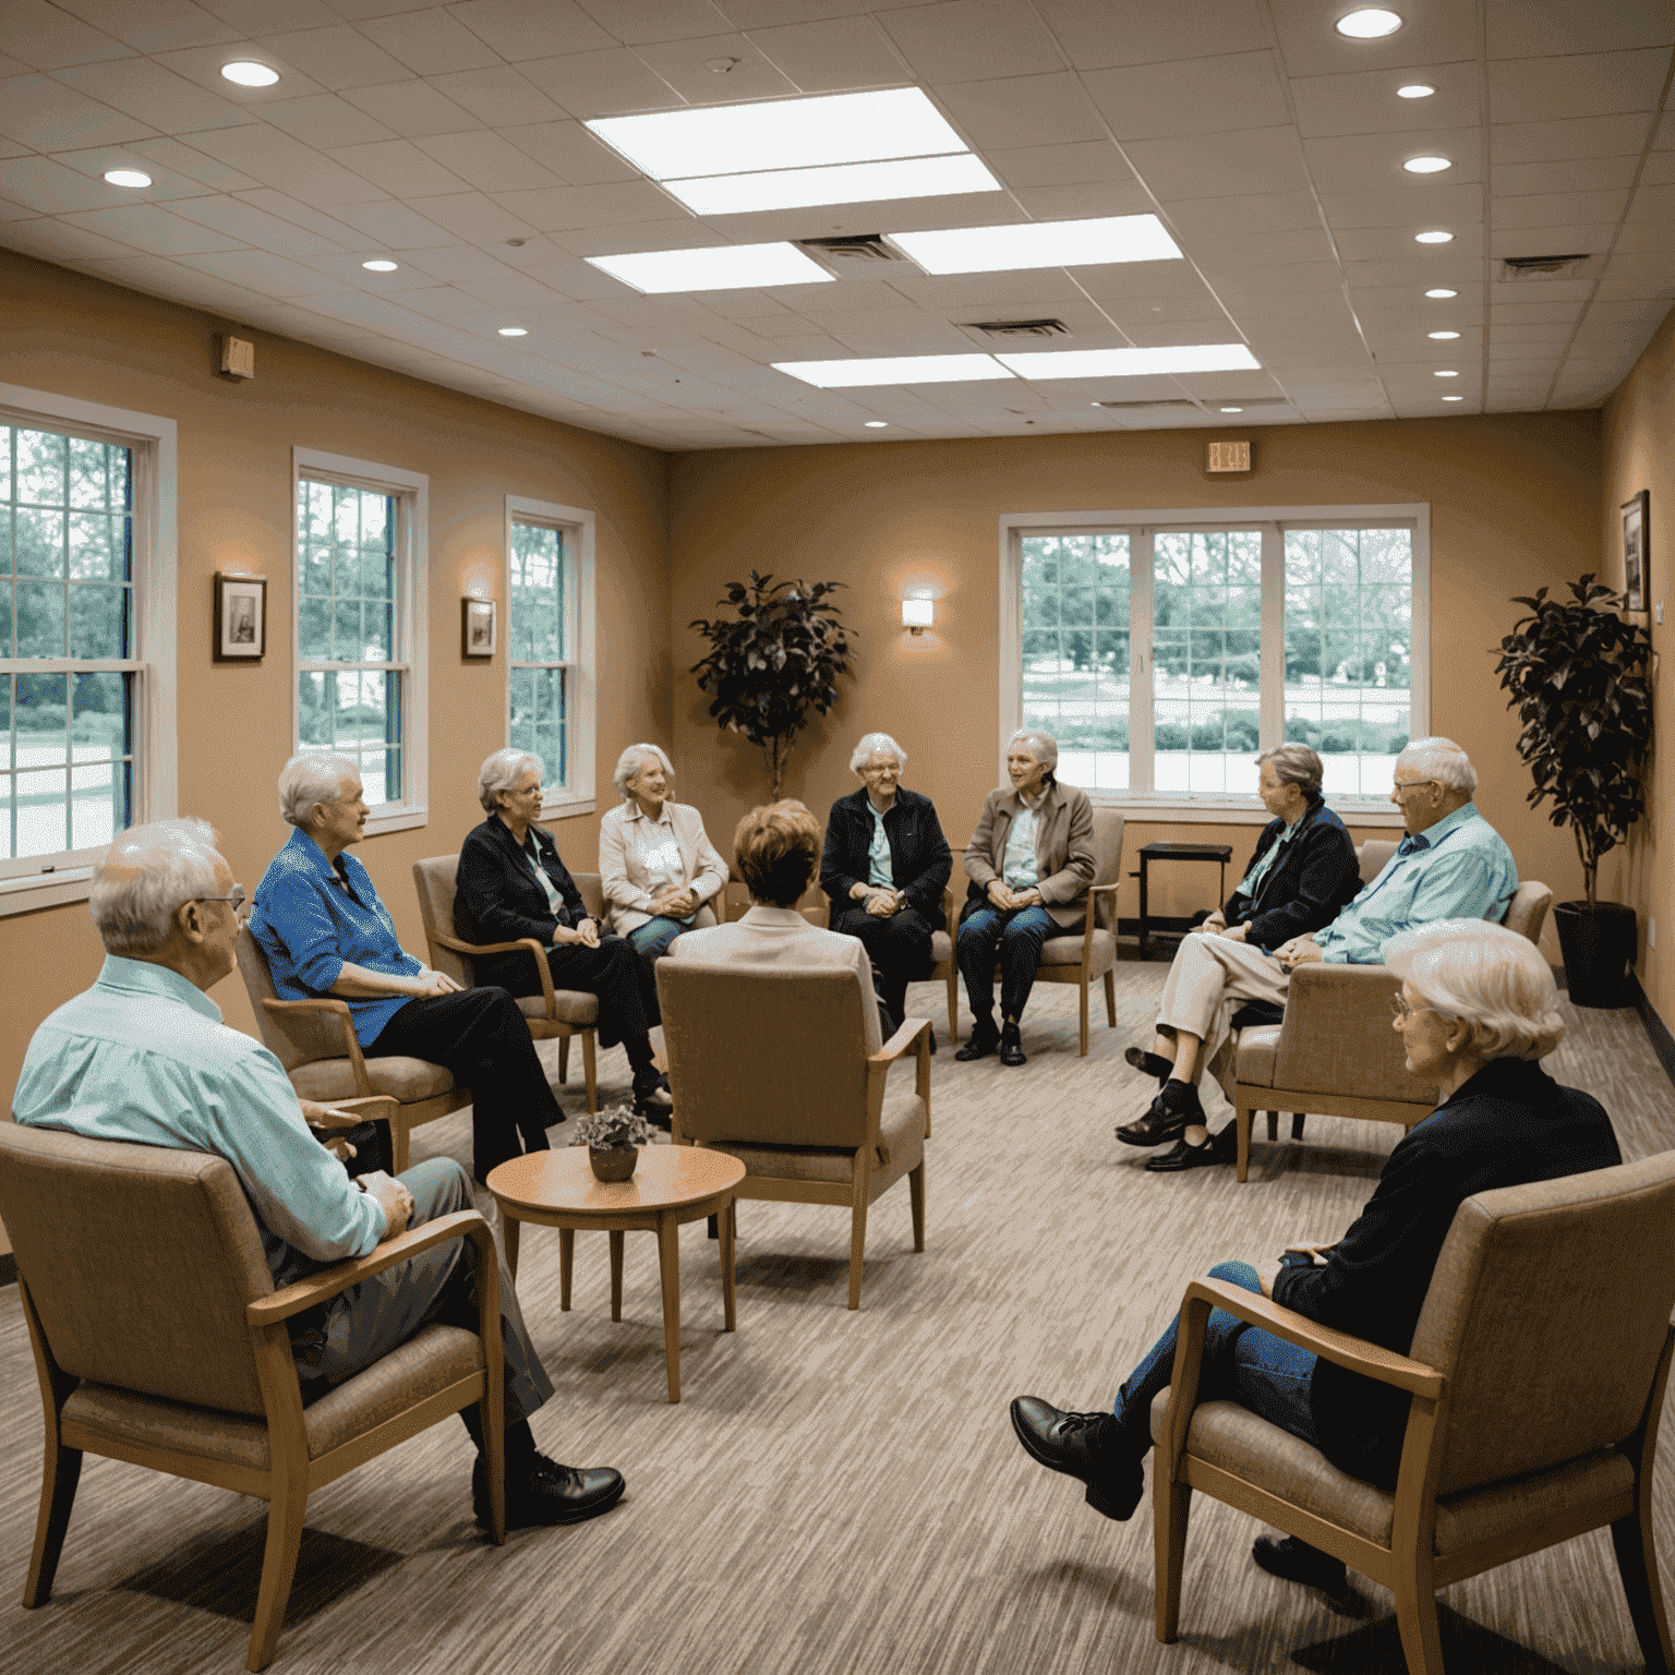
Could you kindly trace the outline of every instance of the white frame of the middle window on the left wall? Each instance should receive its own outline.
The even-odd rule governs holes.
[[[397,667],[402,680],[402,801],[380,804],[367,817],[367,836],[412,831],[430,822],[430,477],[347,454],[291,449],[291,750],[300,750],[302,695],[302,529],[296,491],[303,477],[394,494],[402,501],[395,564]]]

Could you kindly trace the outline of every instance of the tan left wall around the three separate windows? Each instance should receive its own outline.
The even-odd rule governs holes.
[[[504,744],[504,660],[459,657],[459,598],[472,576],[501,595],[504,496],[524,494],[596,514],[598,760],[610,770],[625,739],[662,737],[668,682],[668,459],[492,402],[384,372],[303,343],[256,338],[256,379],[214,374],[211,315],[0,251],[0,380],[179,424],[179,806],[221,831],[255,889],[285,839],[273,782],[291,727],[291,447],[375,459],[430,477],[430,822],[370,838],[360,856],[395,915],[402,941],[424,948],[409,868],[459,848],[482,817],[476,776]],[[213,663],[216,570],[268,576],[268,655],[260,667]],[[578,869],[598,853],[595,816],[561,821]],[[42,1015],[85,988],[100,951],[85,904],[0,920],[0,1089],[10,1094]],[[213,993],[255,1030],[236,977]]]

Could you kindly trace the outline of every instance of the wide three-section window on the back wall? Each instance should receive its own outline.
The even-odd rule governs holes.
[[[1424,506],[1020,516],[1002,548],[1003,734],[1050,732],[1102,801],[1255,811],[1293,740],[1377,812],[1429,732]]]

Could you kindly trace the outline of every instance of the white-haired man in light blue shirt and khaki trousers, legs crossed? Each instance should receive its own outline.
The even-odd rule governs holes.
[[[1390,801],[1407,836],[1395,854],[1323,930],[1291,936],[1271,953],[1226,936],[1188,936],[1169,966],[1157,1007],[1154,1050],[1129,1062],[1156,1075],[1161,1092],[1144,1116],[1124,1122],[1127,1146],[1161,1146],[1147,1169],[1196,1169],[1233,1161],[1233,1124],[1211,1136],[1198,1084],[1208,1065],[1231,1069],[1233,1013],[1248,1002],[1285,1005],[1291,972],[1328,965],[1380,965],[1385,945],[1435,920],[1502,920],[1518,889],[1518,864],[1501,834],[1477,812],[1477,770],[1452,739],[1415,739],[1395,759]]]

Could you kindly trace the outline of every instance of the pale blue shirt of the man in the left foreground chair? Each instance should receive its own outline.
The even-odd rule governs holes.
[[[28,1127],[226,1157],[275,1285],[384,1236],[377,1199],[308,1132],[280,1060],[168,966],[107,955],[99,982],[35,1030],[12,1109]]]

